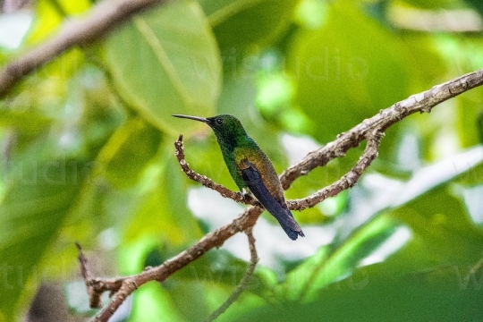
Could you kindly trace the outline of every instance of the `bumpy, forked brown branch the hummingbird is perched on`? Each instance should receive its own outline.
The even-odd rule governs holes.
[[[349,149],[358,147],[362,140],[367,141],[364,153],[349,173],[344,174],[337,182],[334,182],[307,198],[289,200],[287,205],[293,210],[314,207],[322,200],[351,188],[357,183],[360,175],[377,157],[377,149],[380,140],[387,128],[394,123],[402,121],[402,119],[411,114],[417,112],[429,113],[431,109],[439,103],[481,85],[483,85],[483,69],[447,81],[381,110],[378,114],[364,120],[350,131],[337,136],[336,140],[328,143],[325,147],[310,152],[300,162],[290,166],[280,175],[280,182],[282,182],[285,190],[292,185],[292,182],[301,177],[301,175],[309,174],[311,170],[318,166],[326,165],[330,160],[336,157],[343,157]],[[203,256],[208,250],[223,245],[223,243],[235,233],[245,232],[249,235],[250,240],[250,229],[255,225],[258,216],[263,211],[263,209],[258,206],[257,201],[245,198],[241,193],[230,191],[225,187],[212,182],[207,177],[196,174],[192,171],[184,157],[182,136],[180,136],[180,139],[175,142],[175,148],[175,154],[182,166],[182,171],[184,171],[189,178],[210,189],[218,191],[224,197],[231,198],[237,202],[243,202],[250,205],[250,207],[231,223],[216,229],[214,232],[206,234],[201,240],[199,240],[199,242],[191,246],[188,250],[184,250],[174,258],[166,260],[158,267],[147,267],[139,275],[131,275],[117,279],[93,278],[87,268],[87,259],[83,256],[80,249],[80,267],[86,285],[88,286],[91,304],[95,304],[95,306],[99,305],[100,303],[98,302],[98,299],[103,292],[111,292],[114,294],[112,300],[101,310],[97,317],[94,318],[94,321],[107,321],[112,317],[114,311],[119,308],[126,297],[141,285],[151,281],[165,281],[165,279],[174,274],[174,272],[191,264],[191,262]]]

